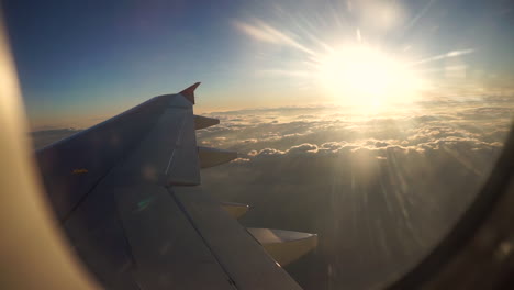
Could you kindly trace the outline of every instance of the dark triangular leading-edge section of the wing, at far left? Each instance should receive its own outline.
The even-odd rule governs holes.
[[[46,192],[60,220],[144,138],[166,108],[164,101],[153,98],[36,152]]]

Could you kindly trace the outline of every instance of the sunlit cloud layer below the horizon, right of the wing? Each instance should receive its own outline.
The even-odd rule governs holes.
[[[199,143],[241,158],[204,170],[204,188],[254,205],[243,223],[320,235],[288,267],[306,289],[369,288],[417,263],[484,182],[513,103],[425,101],[378,113],[276,108],[212,113]]]

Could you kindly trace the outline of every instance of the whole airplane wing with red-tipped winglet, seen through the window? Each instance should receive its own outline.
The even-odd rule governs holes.
[[[48,199],[89,270],[109,289],[300,289],[282,269],[316,235],[245,228],[248,205],[219,202],[200,169],[234,152],[198,147],[194,83],[37,150]]]

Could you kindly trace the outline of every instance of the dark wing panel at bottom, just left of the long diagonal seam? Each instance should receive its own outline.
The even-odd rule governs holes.
[[[145,185],[114,192],[142,289],[233,289],[165,188]]]

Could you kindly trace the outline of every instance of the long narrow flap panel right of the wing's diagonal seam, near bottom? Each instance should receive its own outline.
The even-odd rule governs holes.
[[[238,289],[301,289],[200,187],[169,189]]]

